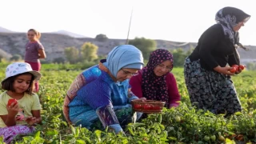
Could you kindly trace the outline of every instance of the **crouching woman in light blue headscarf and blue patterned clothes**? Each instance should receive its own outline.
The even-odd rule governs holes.
[[[129,94],[128,79],[138,74],[142,66],[142,52],[138,48],[114,47],[106,59],[84,70],[71,84],[63,107],[66,120],[89,130],[108,126],[115,133],[122,131],[133,116],[130,100],[138,99]]]

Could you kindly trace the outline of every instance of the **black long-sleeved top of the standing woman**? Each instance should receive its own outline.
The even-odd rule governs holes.
[[[200,59],[202,68],[206,70],[214,70],[214,67],[224,67],[227,64],[230,66],[240,64],[238,51],[230,39],[226,38],[220,24],[210,26],[202,34],[198,46],[189,58],[192,62]]]

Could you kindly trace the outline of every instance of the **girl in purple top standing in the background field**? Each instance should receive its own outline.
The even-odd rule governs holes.
[[[26,43],[25,62],[29,63],[33,70],[39,71],[41,69],[41,63],[39,58],[46,58],[46,53],[42,43],[39,42],[41,34],[34,29],[30,29],[27,32],[27,38],[29,42]],[[34,92],[38,92],[39,84],[35,82]]]

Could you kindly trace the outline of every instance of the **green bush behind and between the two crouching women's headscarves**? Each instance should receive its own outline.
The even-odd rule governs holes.
[[[129,41],[130,45],[136,46],[142,51],[144,59],[150,58],[150,53],[156,50],[156,42],[146,38],[135,38]]]

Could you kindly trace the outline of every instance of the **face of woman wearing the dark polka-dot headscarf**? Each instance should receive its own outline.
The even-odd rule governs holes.
[[[154,74],[158,77],[165,75],[170,72],[173,63],[170,60],[160,63],[158,66],[154,68]]]

